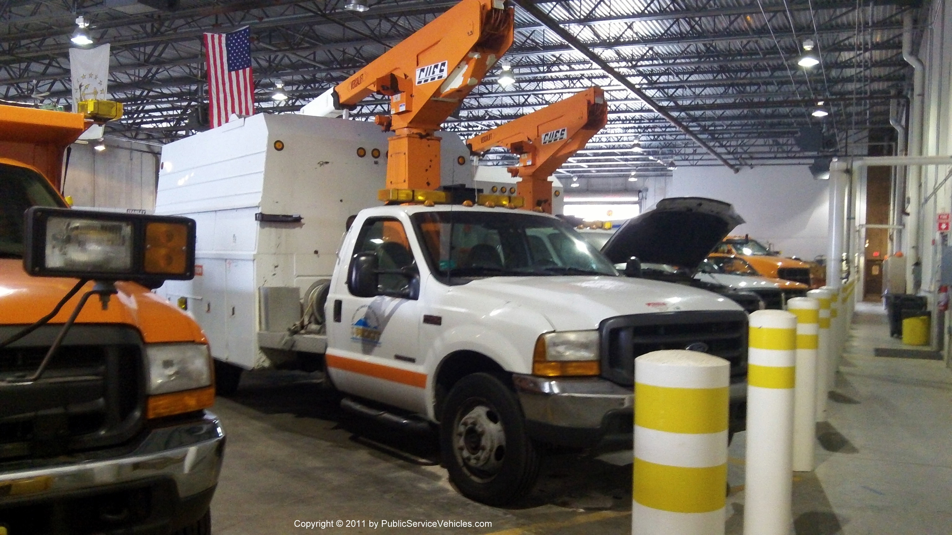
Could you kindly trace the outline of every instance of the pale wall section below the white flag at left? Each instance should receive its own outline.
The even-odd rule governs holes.
[[[161,148],[111,138],[106,150],[93,150],[95,144],[70,146],[64,194],[73,206],[154,209]]]

